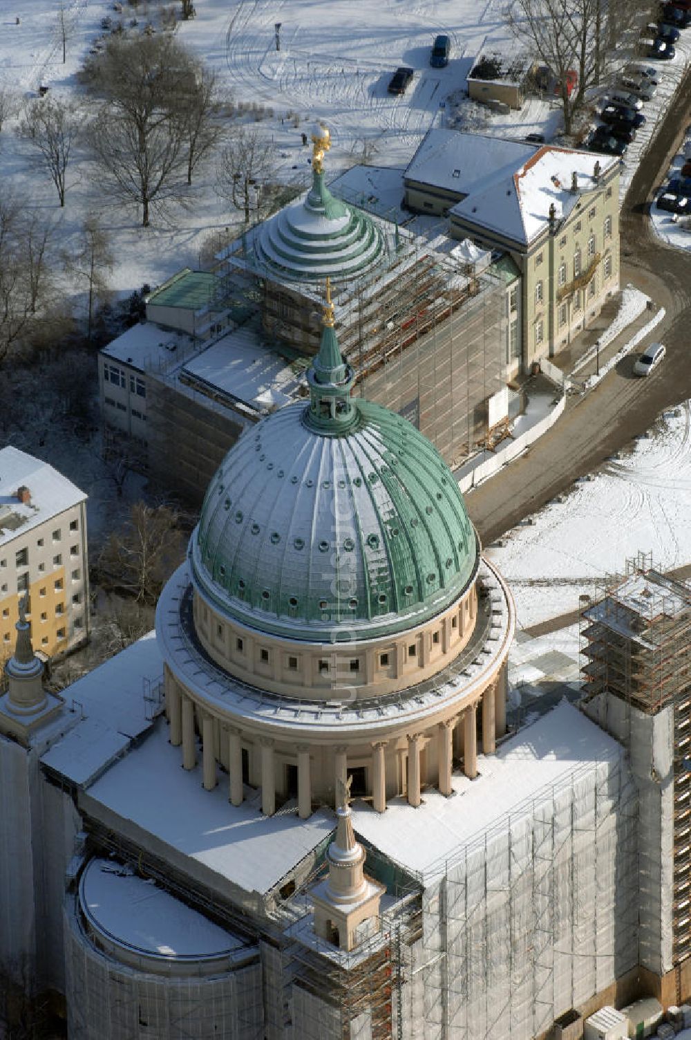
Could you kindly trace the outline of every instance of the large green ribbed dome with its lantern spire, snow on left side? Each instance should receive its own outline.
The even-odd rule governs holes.
[[[220,613],[330,643],[422,624],[470,584],[479,554],[432,444],[350,396],[333,320],[327,309],[310,404],[281,409],[231,448],[190,541],[194,582]]]

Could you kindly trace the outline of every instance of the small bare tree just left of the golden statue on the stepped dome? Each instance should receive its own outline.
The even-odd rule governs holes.
[[[270,142],[256,127],[242,127],[223,149],[216,168],[216,190],[236,209],[243,209],[245,224],[249,224],[250,211],[259,210],[262,190],[274,171]]]

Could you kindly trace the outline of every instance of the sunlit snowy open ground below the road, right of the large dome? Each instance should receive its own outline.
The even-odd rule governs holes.
[[[513,528],[487,555],[509,583],[519,628],[579,607],[627,557],[652,552],[665,570],[691,564],[690,402],[663,417],[627,458],[608,462]]]

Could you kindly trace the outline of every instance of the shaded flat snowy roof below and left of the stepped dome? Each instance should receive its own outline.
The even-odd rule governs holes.
[[[259,333],[247,326],[223,336],[187,362],[181,375],[262,412],[294,400],[300,385],[292,368],[267,349]]]

